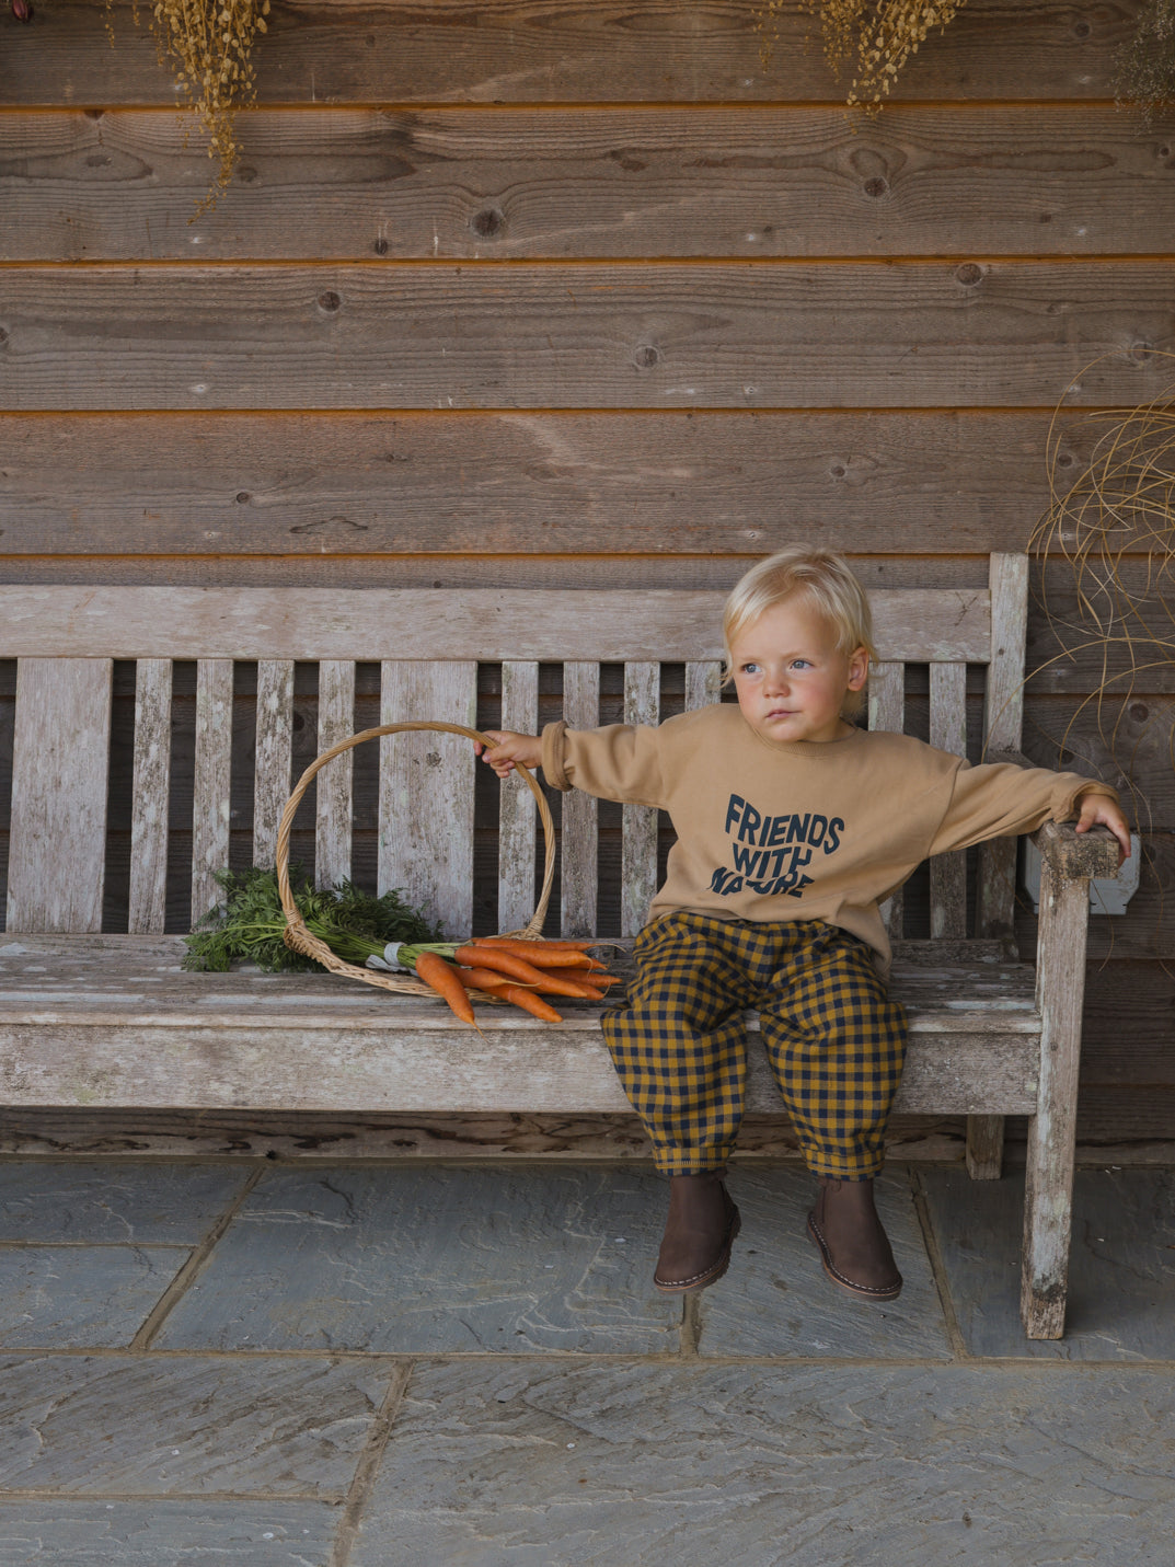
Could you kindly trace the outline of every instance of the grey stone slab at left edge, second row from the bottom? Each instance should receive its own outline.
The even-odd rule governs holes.
[[[0,1496],[338,1500],[395,1374],[379,1360],[3,1355]]]

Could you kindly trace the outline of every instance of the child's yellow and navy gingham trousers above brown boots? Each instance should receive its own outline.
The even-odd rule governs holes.
[[[906,1012],[871,948],[824,920],[669,914],[636,940],[636,981],[603,1014],[616,1070],[666,1175],[721,1167],[746,1087],[755,1009],[810,1169],[863,1180],[882,1166],[906,1059]]]

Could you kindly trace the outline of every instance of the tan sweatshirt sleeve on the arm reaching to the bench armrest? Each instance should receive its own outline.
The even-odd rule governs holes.
[[[1079,773],[1020,768],[1007,762],[973,768],[964,762],[956,771],[949,804],[927,854],[967,849],[985,838],[1036,832],[1047,821],[1068,821],[1078,815],[1083,794],[1119,798],[1109,784],[1081,777]]]

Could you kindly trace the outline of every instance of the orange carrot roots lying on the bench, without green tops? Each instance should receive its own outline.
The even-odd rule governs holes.
[[[478,1026],[473,1017],[475,995],[498,997],[533,1017],[561,1023],[561,1015],[544,997],[603,1001],[609,986],[619,984],[602,962],[589,956],[588,948],[594,945],[526,940],[520,935],[475,935],[462,946],[439,942],[401,946],[398,961],[410,964],[448,1001],[462,1023]]]

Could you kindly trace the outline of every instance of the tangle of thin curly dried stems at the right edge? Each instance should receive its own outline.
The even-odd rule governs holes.
[[[1169,360],[1175,376],[1175,354],[1148,349],[1148,359]],[[1050,602],[1050,574],[1042,570],[1037,603],[1058,650],[1034,674],[1094,655],[1100,664],[1095,691],[1078,705],[1064,735],[1050,738],[1072,751],[1075,726],[1092,707],[1100,754],[1079,760],[1103,776],[1117,769],[1106,780],[1125,785],[1145,827],[1153,802],[1136,780],[1139,747],[1158,738],[1175,766],[1175,729],[1159,733],[1170,729],[1169,705],[1134,700],[1139,689],[1155,689],[1156,677],[1159,689],[1169,689],[1175,666],[1175,381],[1139,407],[1086,414],[1083,423],[1100,432],[1072,483],[1059,480],[1067,456],[1062,411],[1064,403],[1048,432],[1050,505],[1028,548],[1042,564],[1065,564],[1068,602]]]

